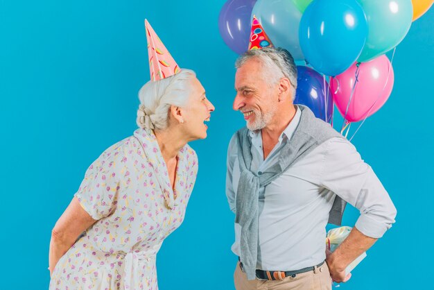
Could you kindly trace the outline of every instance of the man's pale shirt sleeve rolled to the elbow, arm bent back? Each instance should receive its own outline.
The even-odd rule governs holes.
[[[322,182],[360,211],[355,226],[366,236],[380,238],[394,223],[397,210],[388,192],[346,139],[328,141]]]

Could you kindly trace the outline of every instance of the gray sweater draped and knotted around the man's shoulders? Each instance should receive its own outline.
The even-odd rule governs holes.
[[[248,280],[256,278],[258,251],[258,201],[259,188],[266,187],[284,173],[291,165],[309,154],[314,148],[332,137],[342,137],[333,130],[329,123],[315,118],[309,108],[297,105],[301,110],[301,119],[290,141],[281,149],[279,162],[256,175],[250,171],[252,140],[248,128],[242,128],[236,133],[238,138],[238,162],[241,176],[236,194],[235,222],[241,225],[241,262]],[[329,215],[329,223],[340,225],[345,209],[345,201],[339,196],[333,203]],[[324,237],[325,238],[325,237]]]

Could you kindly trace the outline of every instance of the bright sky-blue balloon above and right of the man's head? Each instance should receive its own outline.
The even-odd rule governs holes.
[[[360,56],[366,37],[366,16],[356,0],[315,0],[300,22],[306,61],[327,76],[348,69]]]

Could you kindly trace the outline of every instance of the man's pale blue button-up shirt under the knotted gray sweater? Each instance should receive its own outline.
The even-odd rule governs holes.
[[[250,131],[255,173],[278,162],[281,148],[289,142],[300,122],[295,117],[263,159],[261,130]],[[235,212],[240,178],[236,137],[227,153],[226,194]],[[371,167],[346,139],[333,137],[296,162],[259,191],[259,241],[257,268],[295,271],[320,264],[325,259],[325,226],[336,194],[361,212],[356,228],[379,238],[394,223],[396,209]],[[240,226],[235,223],[232,251],[240,255]]]

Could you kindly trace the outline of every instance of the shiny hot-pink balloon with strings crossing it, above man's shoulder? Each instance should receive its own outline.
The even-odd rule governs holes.
[[[356,63],[342,74],[331,78],[330,87],[333,101],[342,116],[345,116],[351,91],[356,81]],[[354,89],[345,119],[357,122],[378,111],[392,92],[394,74],[387,56],[379,56],[359,67],[358,83]]]

